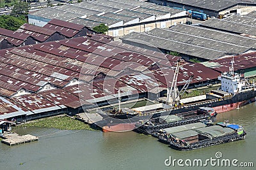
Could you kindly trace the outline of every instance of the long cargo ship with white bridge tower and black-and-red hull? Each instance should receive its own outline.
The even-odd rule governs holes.
[[[120,127],[124,126],[118,125],[120,124],[118,122],[120,118],[129,120],[128,123],[130,124],[138,122],[139,120],[148,120],[148,118],[159,118],[166,115],[175,115],[197,111],[200,110],[200,107],[213,108],[216,113],[223,113],[225,111],[234,110],[243,106],[244,104],[252,103],[255,101],[255,83],[251,83],[246,78],[244,78],[244,74],[234,73],[234,59],[231,61],[231,67],[229,71],[222,73],[218,79],[221,81],[221,87],[219,90],[211,90],[211,92],[205,94],[204,96],[187,98],[182,104],[170,104],[170,109],[150,111],[140,114],[119,113],[118,115],[106,115],[106,113],[100,113],[100,115],[102,115],[102,117],[110,117],[106,118],[104,124],[108,127],[110,127],[111,124],[115,126],[117,125],[116,127],[119,126],[118,131],[120,131]],[[100,124],[102,124],[102,122]],[[112,128],[111,131],[115,131],[115,128]]]

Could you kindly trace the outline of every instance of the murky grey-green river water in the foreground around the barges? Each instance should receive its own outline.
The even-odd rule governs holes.
[[[180,169],[166,166],[169,159],[237,159],[256,164],[256,104],[218,115],[218,122],[229,120],[241,124],[245,140],[198,150],[180,152],[159,143],[156,138],[136,132],[60,131],[37,127],[19,127],[19,134],[39,136],[39,141],[17,146],[0,143],[0,169]],[[184,164],[184,163],[183,163]],[[254,169],[256,165],[254,165]],[[205,167],[184,167],[205,169]],[[207,169],[253,169],[253,167],[220,167]]]

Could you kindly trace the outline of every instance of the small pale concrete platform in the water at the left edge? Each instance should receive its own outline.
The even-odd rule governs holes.
[[[38,138],[36,136],[26,134],[23,136],[20,136],[17,133],[12,132],[5,132],[2,136],[2,143],[5,143],[6,145],[19,145],[21,143],[28,143],[31,141],[38,141]]]

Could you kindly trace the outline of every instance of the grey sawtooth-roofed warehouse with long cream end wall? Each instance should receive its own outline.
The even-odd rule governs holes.
[[[44,8],[28,15],[29,24],[43,27],[51,19],[86,25],[108,25],[108,36],[145,32],[186,22],[186,11],[136,0],[95,0]]]

